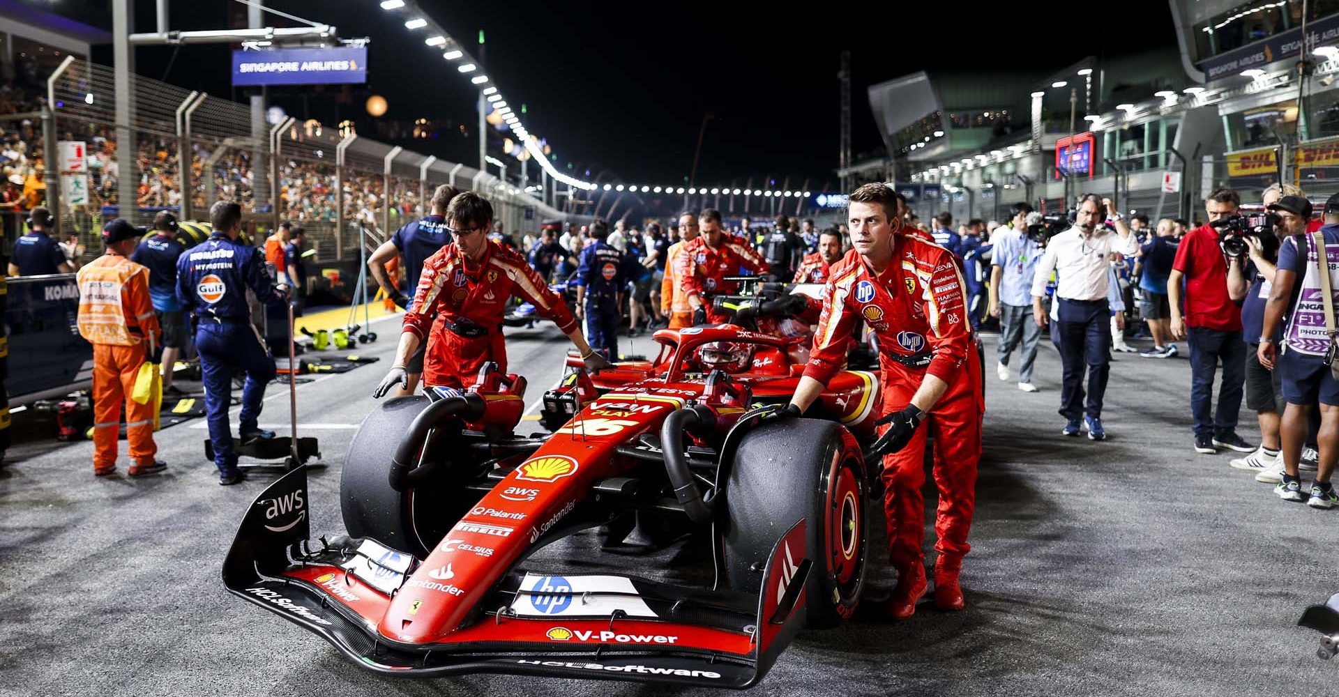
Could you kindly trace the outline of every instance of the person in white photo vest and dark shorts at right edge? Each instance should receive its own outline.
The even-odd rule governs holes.
[[[1281,226],[1292,231],[1306,230],[1307,218],[1311,215],[1311,202],[1302,197],[1283,197],[1271,210],[1275,210],[1281,219]],[[1268,369],[1280,371],[1283,383],[1283,397],[1287,405],[1280,423],[1280,444],[1283,445],[1283,467],[1275,492],[1279,498],[1291,502],[1303,500],[1302,478],[1299,464],[1302,459],[1303,440],[1307,437],[1307,420],[1312,405],[1320,403],[1320,462],[1315,483],[1311,486],[1307,504],[1314,508],[1332,508],[1339,503],[1330,475],[1334,471],[1336,455],[1339,455],[1339,380],[1335,380],[1326,356],[1334,351],[1334,338],[1327,330],[1327,325],[1334,322],[1332,314],[1327,317],[1332,308],[1326,308],[1318,298],[1323,298],[1323,285],[1320,280],[1320,264],[1316,242],[1319,237],[1324,245],[1326,258],[1339,254],[1339,195],[1330,197],[1324,207],[1324,226],[1310,235],[1289,235],[1284,238],[1279,247],[1279,268],[1273,276],[1269,289],[1269,300],[1265,302],[1264,325],[1260,334],[1260,348],[1257,357],[1260,365]],[[1306,249],[1299,249],[1300,243]],[[1331,298],[1334,290],[1339,289],[1339,274],[1335,274],[1332,264],[1327,264],[1328,285]],[[1300,292],[1293,293],[1300,277]],[[1283,317],[1288,316],[1284,325]],[[1283,356],[1272,337],[1283,328],[1283,344],[1287,351]]]

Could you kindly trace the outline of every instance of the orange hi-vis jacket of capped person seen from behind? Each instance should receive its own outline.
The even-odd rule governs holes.
[[[149,269],[104,254],[79,269],[79,334],[90,344],[134,346],[162,330],[149,298]],[[138,332],[134,332],[137,329]]]

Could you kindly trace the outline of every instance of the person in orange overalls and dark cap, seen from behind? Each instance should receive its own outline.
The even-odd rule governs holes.
[[[130,261],[139,231],[116,218],[102,229],[107,253],[79,269],[79,334],[92,344],[92,474],[116,472],[121,405],[126,405],[130,476],[163,471],[154,459],[154,400],[130,399],[145,361],[155,361],[162,330],[149,298],[149,269]]]

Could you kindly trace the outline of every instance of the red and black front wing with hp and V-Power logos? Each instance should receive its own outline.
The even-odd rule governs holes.
[[[295,514],[289,504],[289,516],[297,515],[293,524],[266,518],[274,502],[309,506],[307,492],[299,468],[257,498],[228,553],[224,583],[379,673],[486,672],[749,688],[803,623],[811,562],[803,558],[806,522],[798,520],[777,540],[758,597],[628,575],[513,569],[442,641],[394,642],[376,629],[390,605],[379,590],[388,587],[386,579],[372,583],[351,571],[368,563],[359,549],[380,549],[375,542],[323,538],[321,549],[311,550],[305,511]],[[379,571],[395,583],[396,570]],[[399,570],[403,578],[411,571]]]

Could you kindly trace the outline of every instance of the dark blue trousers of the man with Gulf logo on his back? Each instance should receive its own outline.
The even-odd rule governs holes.
[[[217,322],[202,318],[195,329],[195,349],[205,381],[205,412],[209,421],[209,440],[214,445],[214,464],[221,474],[237,467],[233,435],[228,424],[228,409],[233,401],[233,371],[246,375],[242,387],[242,412],[238,431],[256,431],[265,385],[274,379],[274,359],[270,357],[256,328],[242,322]]]

